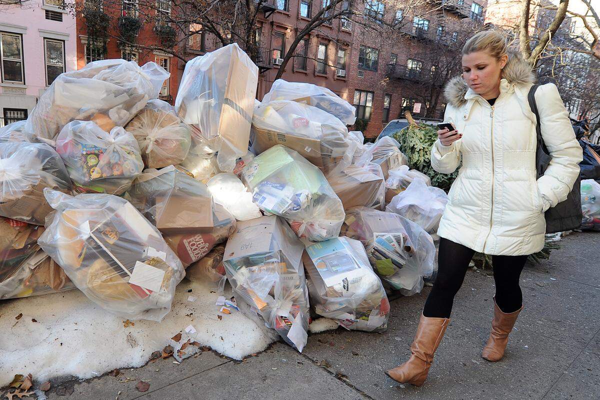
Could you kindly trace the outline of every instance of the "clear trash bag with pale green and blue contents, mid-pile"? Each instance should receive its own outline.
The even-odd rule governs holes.
[[[292,149],[277,145],[242,170],[254,203],[283,216],[298,237],[313,242],[337,237],[344,206],[323,173]]]

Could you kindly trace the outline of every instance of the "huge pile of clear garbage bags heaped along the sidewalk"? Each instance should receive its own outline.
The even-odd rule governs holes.
[[[385,330],[386,289],[434,276],[444,197],[394,139],[348,131],[352,104],[281,79],[260,102],[258,71],[237,44],[196,57],[175,106],[154,62],[61,74],[0,128],[0,299],[79,290],[161,321],[187,277],[298,351],[313,311]]]

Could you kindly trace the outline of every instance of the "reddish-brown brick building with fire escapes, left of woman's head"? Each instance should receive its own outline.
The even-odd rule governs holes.
[[[412,9],[370,1],[365,7],[375,22],[395,28],[381,34],[356,26],[348,80],[349,101],[362,120],[355,128],[376,137],[388,121],[403,118],[404,110],[443,118],[443,85],[460,74],[460,43],[481,28],[486,1],[432,0]]]

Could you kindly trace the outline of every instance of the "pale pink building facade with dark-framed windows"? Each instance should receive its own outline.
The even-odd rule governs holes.
[[[77,69],[75,18],[62,4],[0,3],[0,127],[26,119],[59,74]]]

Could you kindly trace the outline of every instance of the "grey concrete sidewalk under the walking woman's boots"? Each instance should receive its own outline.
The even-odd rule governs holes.
[[[527,265],[525,307],[505,358],[481,359],[493,278],[469,271],[429,378],[417,388],[383,374],[408,347],[430,288],[392,302],[385,333],[311,335],[302,354],[277,343],[235,362],[205,351],[180,365],[159,360],[116,377],[64,381],[49,399],[600,399],[600,233],[565,237],[550,260]],[[148,392],[136,390],[148,381]]]

